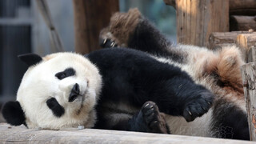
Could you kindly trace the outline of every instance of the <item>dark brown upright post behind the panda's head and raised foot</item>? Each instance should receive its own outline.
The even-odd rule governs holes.
[[[118,0],[73,0],[75,51],[86,54],[98,50],[98,35],[119,10]]]

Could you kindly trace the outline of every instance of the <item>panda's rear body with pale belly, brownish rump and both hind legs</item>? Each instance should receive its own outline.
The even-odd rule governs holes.
[[[129,47],[150,54],[158,62],[178,66],[214,94],[210,110],[193,122],[167,115],[172,134],[214,138],[249,139],[240,66],[242,54],[236,46],[222,50],[174,45],[138,9],[116,13],[100,34],[102,47]]]

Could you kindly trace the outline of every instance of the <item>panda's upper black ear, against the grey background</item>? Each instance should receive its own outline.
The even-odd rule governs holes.
[[[38,62],[42,61],[42,57],[40,57],[38,54],[32,54],[32,53],[18,55],[18,58],[22,62],[25,62],[28,66],[35,65]]]

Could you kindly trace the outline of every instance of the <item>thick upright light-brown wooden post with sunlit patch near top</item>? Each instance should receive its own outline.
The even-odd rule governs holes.
[[[229,2],[223,0],[177,0],[179,43],[209,46],[212,32],[229,31]]]

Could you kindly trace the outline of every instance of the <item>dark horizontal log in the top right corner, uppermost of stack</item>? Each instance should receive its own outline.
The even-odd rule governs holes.
[[[250,15],[256,14],[255,0],[230,0],[230,15]]]

